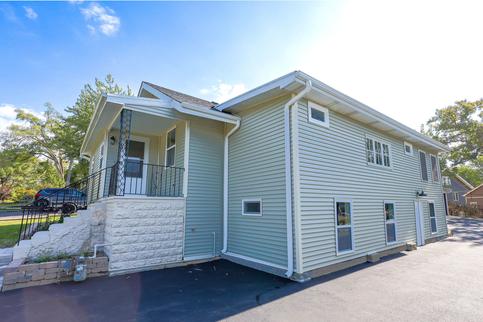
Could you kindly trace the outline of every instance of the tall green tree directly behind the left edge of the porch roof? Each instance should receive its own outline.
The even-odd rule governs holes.
[[[104,82],[96,78],[95,85],[96,87],[93,88],[90,84],[86,84],[76,103],[72,107],[65,109],[71,115],[65,119],[62,138],[65,140],[65,145],[68,146],[66,154],[72,160],[77,161],[75,165],[76,179],[81,179],[88,175],[88,165],[86,166],[86,163],[79,158],[79,152],[101,93],[132,95],[129,86],[127,91],[123,90],[117,83],[114,83],[114,78],[111,74],[106,76]],[[67,184],[69,184],[71,178],[71,166],[70,164]]]

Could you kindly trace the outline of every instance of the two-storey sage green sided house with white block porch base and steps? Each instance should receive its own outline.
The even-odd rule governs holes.
[[[446,238],[447,151],[301,71],[221,104],[142,82],[99,98],[87,210],[14,257],[88,239],[110,275],[221,256],[308,280]]]

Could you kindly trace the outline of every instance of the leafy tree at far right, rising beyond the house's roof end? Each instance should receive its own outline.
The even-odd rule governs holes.
[[[451,148],[443,161],[453,167],[468,164],[483,169],[483,98],[474,102],[460,100],[436,110],[426,125],[427,131],[421,126],[422,133]]]

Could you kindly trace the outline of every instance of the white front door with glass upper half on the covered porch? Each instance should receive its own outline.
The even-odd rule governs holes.
[[[129,140],[124,194],[146,194],[147,141]]]

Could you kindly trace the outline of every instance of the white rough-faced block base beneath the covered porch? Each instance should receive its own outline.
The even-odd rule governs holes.
[[[182,261],[184,220],[182,197],[107,198],[103,243],[112,244],[104,247],[111,270],[155,269],[159,264]]]

